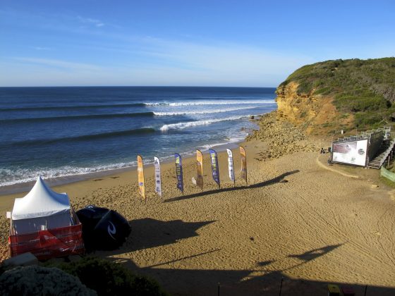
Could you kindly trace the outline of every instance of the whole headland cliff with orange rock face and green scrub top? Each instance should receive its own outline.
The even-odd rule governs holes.
[[[350,59],[299,68],[277,87],[279,116],[307,134],[395,123],[395,58]]]

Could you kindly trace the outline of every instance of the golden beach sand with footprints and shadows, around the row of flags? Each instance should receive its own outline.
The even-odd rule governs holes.
[[[174,164],[162,166],[163,199],[147,166],[146,204],[135,170],[54,190],[68,192],[75,210],[95,204],[125,216],[132,227],[126,243],[95,255],[156,278],[172,295],[278,295],[281,278],[281,295],[326,295],[327,283],[351,285],[357,295],[365,285],[367,295],[394,295],[395,190],[379,183],[377,170],[328,166],[320,148],[331,139],[304,137],[275,112],[267,118],[243,143],[248,186],[233,149],[236,187],[221,152],[221,190],[208,154],[203,191],[191,182],[195,158],[183,159],[184,195]],[[3,258],[5,214],[21,196],[0,197]]]

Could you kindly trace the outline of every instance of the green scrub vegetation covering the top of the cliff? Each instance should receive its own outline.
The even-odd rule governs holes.
[[[394,125],[395,58],[314,63],[293,72],[279,88],[289,82],[298,84],[300,95],[333,97],[336,110],[353,114],[358,129]]]

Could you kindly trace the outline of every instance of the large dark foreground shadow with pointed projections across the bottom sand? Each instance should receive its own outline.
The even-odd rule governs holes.
[[[167,264],[189,260],[194,257],[204,259],[205,255],[209,253],[212,253],[210,256],[217,256],[217,254],[220,256],[221,249],[193,254],[144,268],[138,267],[129,259],[116,257],[111,259],[119,261],[136,273],[156,278],[164,289],[172,295],[279,295],[281,279],[283,280],[282,296],[327,295],[327,285],[329,283],[337,284],[339,287],[349,286],[353,288],[356,295],[364,295],[366,286],[362,284],[302,280],[291,278],[286,274],[286,271],[297,269],[303,264],[309,264],[309,262],[329,254],[329,252],[341,247],[341,245],[327,245],[319,249],[307,250],[302,254],[290,254],[284,259],[257,262],[257,268],[253,270],[174,269],[167,266]],[[288,266],[284,266],[284,269],[275,268],[274,264],[277,261],[286,260],[287,258],[294,258],[296,261],[289,261]],[[298,260],[303,262],[298,263]],[[348,266],[348,268],[352,269],[352,266]],[[370,285],[367,287],[366,295],[395,295],[395,288]]]

